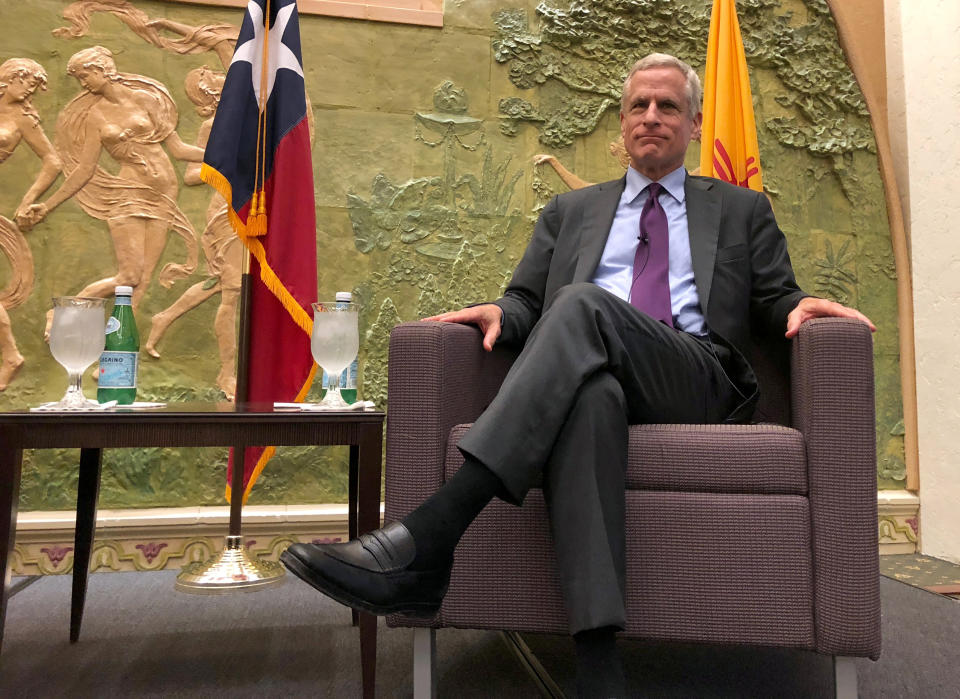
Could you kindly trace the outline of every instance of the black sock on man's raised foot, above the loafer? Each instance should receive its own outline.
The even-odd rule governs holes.
[[[493,471],[468,458],[450,480],[403,519],[417,544],[411,569],[447,565],[467,527],[501,488]]]

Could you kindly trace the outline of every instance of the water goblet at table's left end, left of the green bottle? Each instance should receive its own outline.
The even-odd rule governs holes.
[[[83,296],[59,296],[53,299],[53,325],[50,327],[50,353],[70,375],[70,385],[59,403],[60,410],[78,410],[99,406],[87,400],[80,390],[83,370],[100,358],[106,338],[104,300]]]

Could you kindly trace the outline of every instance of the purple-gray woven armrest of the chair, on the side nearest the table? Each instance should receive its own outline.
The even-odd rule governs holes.
[[[402,323],[390,333],[385,517],[399,519],[443,482],[447,436],[473,422],[496,395],[516,351],[484,351],[457,323]]]

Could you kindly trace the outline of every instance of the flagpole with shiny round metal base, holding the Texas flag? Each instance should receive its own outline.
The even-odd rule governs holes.
[[[240,329],[237,337],[236,409],[243,410],[249,396],[250,375],[250,251],[243,248],[243,274],[240,282]],[[230,526],[223,550],[206,561],[189,563],[177,576],[174,587],[194,594],[249,592],[283,582],[286,571],[276,561],[253,558],[243,544],[243,473],[246,445],[233,448],[233,473],[230,477]]]

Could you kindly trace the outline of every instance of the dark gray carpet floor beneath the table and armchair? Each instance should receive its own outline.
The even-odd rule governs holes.
[[[7,610],[2,697],[357,697],[350,613],[289,579],[255,593],[195,596],[175,573],[90,577],[80,641],[68,641],[70,578],[23,585]],[[29,581],[24,581],[29,582]],[[18,585],[23,585],[16,589]],[[960,698],[960,602],[881,579],[884,653],[858,661],[862,697]],[[381,624],[377,696],[412,694],[410,629]],[[524,635],[574,695],[572,642]],[[621,642],[635,696],[827,697],[829,658],[783,649]],[[437,634],[440,697],[535,697],[498,633]]]

